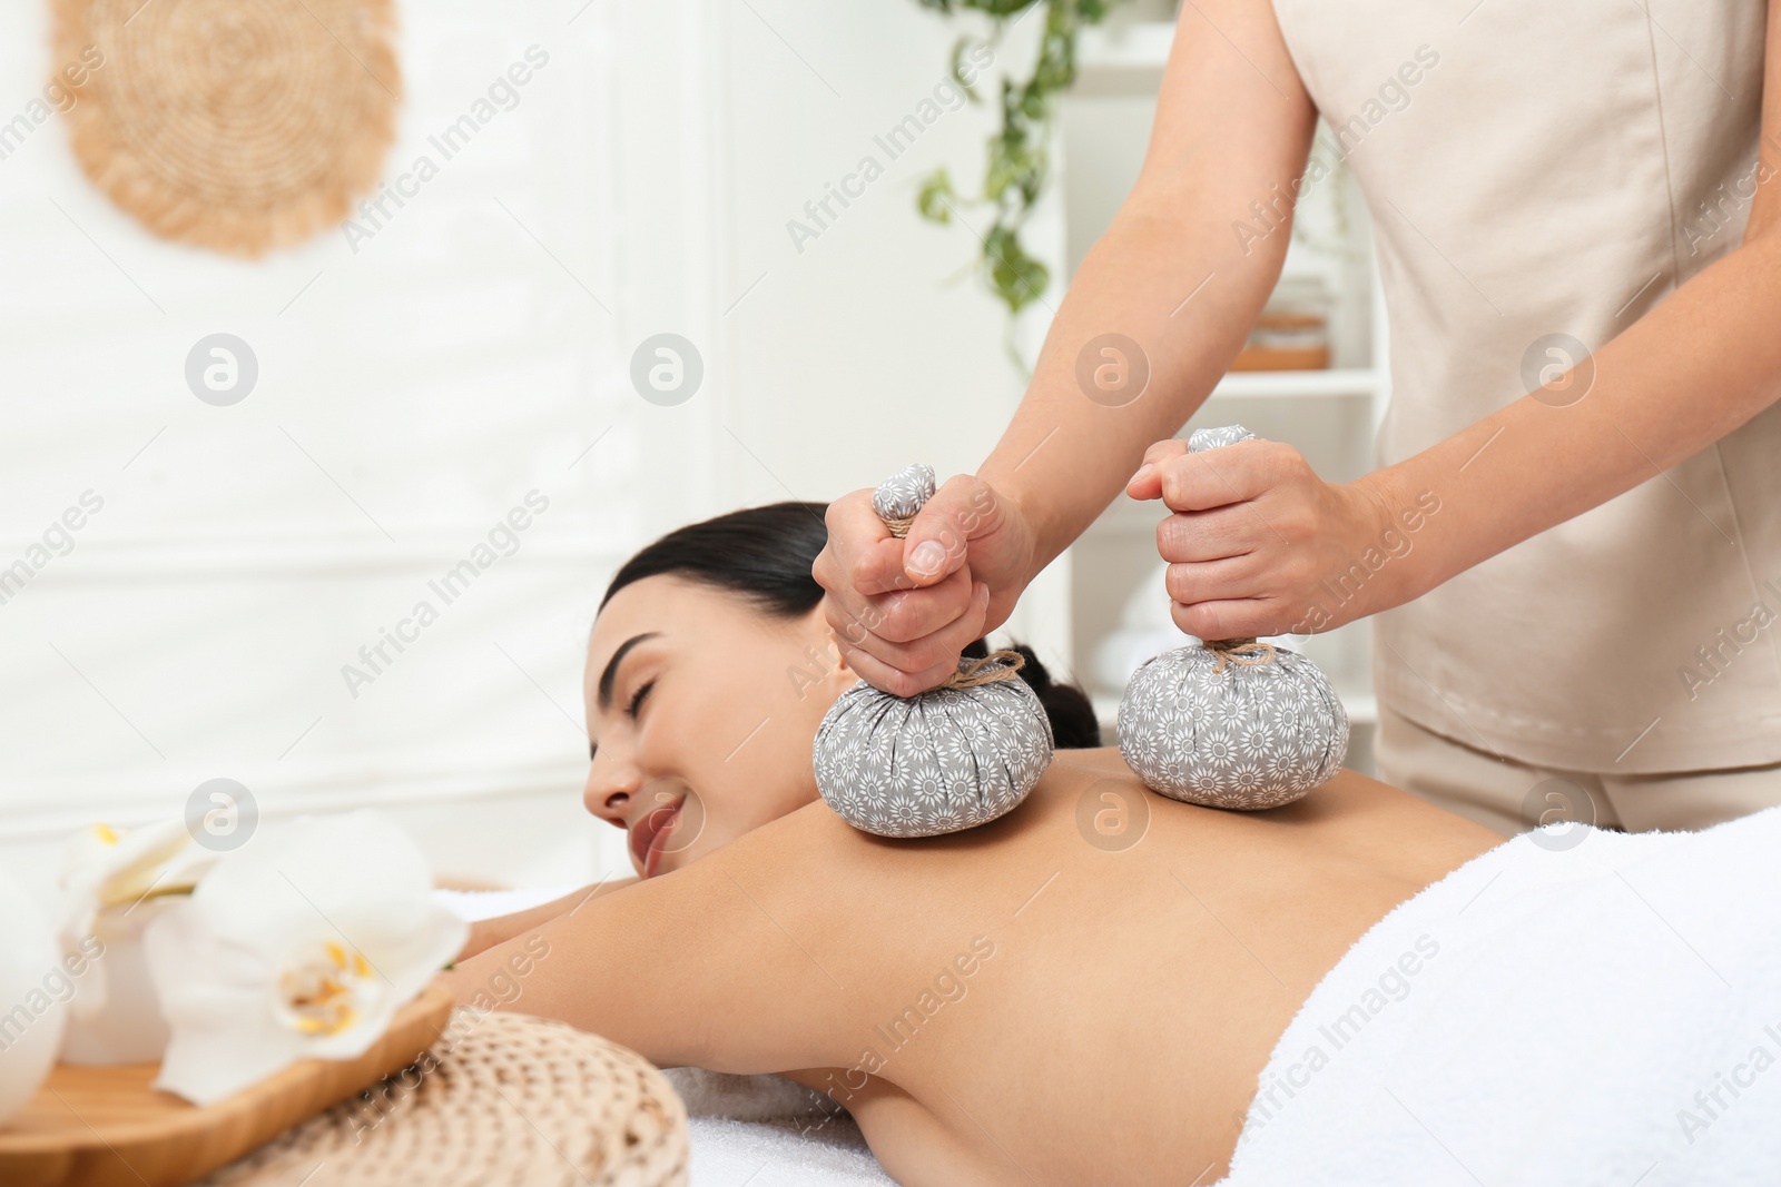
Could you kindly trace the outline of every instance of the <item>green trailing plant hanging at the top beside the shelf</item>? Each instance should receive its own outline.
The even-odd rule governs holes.
[[[990,208],[994,222],[981,237],[983,253],[976,267],[1008,311],[1019,313],[1038,301],[1051,285],[1051,269],[1021,246],[1021,228],[1051,176],[1051,133],[1058,96],[1076,82],[1076,37],[1085,25],[1106,20],[1124,0],[917,0],[917,4],[946,14],[976,9],[994,20],[988,41],[965,36],[953,44],[953,82],[972,103],[980,103],[981,96],[965,80],[967,55],[978,61],[980,46],[994,50],[1028,9],[1038,7],[1045,14],[1045,30],[1038,41],[1038,61],[1031,77],[1024,82],[1003,78],[1003,123],[1001,132],[988,142],[983,194],[962,198],[942,166],[928,174],[915,198],[917,210],[931,222],[951,222],[958,205]]]

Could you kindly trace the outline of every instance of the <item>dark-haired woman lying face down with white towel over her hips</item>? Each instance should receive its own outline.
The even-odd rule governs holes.
[[[1751,1068],[1781,1055],[1776,812],[1503,844],[1352,771],[1273,812],[1195,808],[1028,658],[1060,744],[1028,801],[873,836],[812,776],[855,680],[823,543],[819,504],[778,504],[620,569],[586,803],[639,877],[479,924],[459,1000],[511,970],[506,1007],[659,1066],[782,1073],[910,1185],[1655,1187],[1753,1144],[1772,1162],[1781,1071]]]

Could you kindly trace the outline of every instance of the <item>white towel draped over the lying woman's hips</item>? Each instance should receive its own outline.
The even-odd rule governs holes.
[[[1281,1036],[1224,1180],[1776,1182],[1781,808],[1548,826],[1398,906]]]

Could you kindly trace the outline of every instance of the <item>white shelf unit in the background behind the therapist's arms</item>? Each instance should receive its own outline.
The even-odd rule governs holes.
[[[1172,7],[1167,0],[1138,0],[1122,11],[1126,20],[1083,34],[1078,84],[1060,116],[1065,274],[1076,272],[1106,230],[1143,160],[1174,23],[1131,16],[1147,9],[1163,9],[1158,14],[1167,16]],[[1339,185],[1313,190],[1300,203],[1297,221],[1330,231],[1320,233],[1316,246],[1295,235],[1282,279],[1316,274],[1329,285],[1332,367],[1232,372],[1179,436],[1241,422],[1259,436],[1295,445],[1323,479],[1346,482],[1373,468],[1375,434],[1391,399],[1371,228],[1346,173]],[[1113,676],[1129,671],[1113,653],[1115,632],[1168,626],[1163,562],[1156,555],[1156,523],[1163,514],[1154,504],[1120,498],[1070,548],[1072,669],[1088,687],[1108,739],[1124,690],[1124,680]],[[1154,609],[1143,605],[1147,589],[1154,591]],[[1370,772],[1378,721],[1370,623],[1361,619],[1314,635],[1302,650],[1329,673],[1354,723],[1348,765]]]

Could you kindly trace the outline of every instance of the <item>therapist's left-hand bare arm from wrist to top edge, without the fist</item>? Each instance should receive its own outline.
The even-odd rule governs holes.
[[[1314,126],[1272,5],[1183,5],[1138,182],[1072,278],[1026,399],[978,468],[1033,525],[1035,573],[1094,523],[1145,447],[1174,436],[1243,349],[1286,260]],[[1268,222],[1277,230],[1252,238]],[[1085,347],[1110,333],[1149,361],[1149,386],[1126,406],[1110,404],[1127,393],[1092,397],[1078,374]]]

